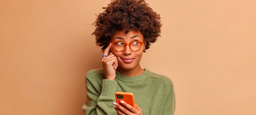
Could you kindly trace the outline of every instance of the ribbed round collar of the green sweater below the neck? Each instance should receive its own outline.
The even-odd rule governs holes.
[[[125,76],[123,75],[122,73],[118,72],[118,70],[116,71],[116,78],[121,80],[121,81],[124,81],[124,82],[136,82],[136,81],[140,81],[140,80],[143,80],[145,79],[146,77],[148,77],[150,74],[151,74],[151,71],[148,70],[148,69],[144,69],[145,71],[138,75],[138,76],[132,76],[132,77],[129,77],[129,76]]]

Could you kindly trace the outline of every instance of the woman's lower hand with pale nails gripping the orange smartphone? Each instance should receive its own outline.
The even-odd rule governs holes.
[[[141,108],[135,104],[135,108],[130,104],[126,103],[125,101],[120,101],[122,105],[118,104],[117,102],[113,102],[114,109],[117,111],[118,115],[142,115]]]

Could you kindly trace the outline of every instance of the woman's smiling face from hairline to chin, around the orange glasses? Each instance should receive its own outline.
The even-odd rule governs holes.
[[[117,30],[115,35],[111,37],[111,42],[142,42],[144,40],[140,31],[129,31],[125,33],[125,30]],[[126,45],[125,49],[121,52],[115,50],[114,45],[111,46],[111,52],[117,57],[118,68],[122,69],[141,69],[140,60],[142,58],[143,50],[145,50],[146,44],[142,44],[138,51],[132,51],[129,45]]]

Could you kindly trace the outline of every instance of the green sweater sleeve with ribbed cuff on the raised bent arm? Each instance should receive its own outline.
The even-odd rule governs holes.
[[[93,81],[93,79],[89,80],[86,77],[87,101],[85,101],[82,107],[84,113],[86,115],[116,114],[112,103],[115,101],[114,94],[117,90],[117,82],[103,79],[101,86],[95,83],[97,82]],[[101,91],[99,89],[101,89]]]

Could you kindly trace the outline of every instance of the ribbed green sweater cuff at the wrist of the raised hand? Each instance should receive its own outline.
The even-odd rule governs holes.
[[[102,96],[115,96],[115,92],[117,90],[117,81],[103,79],[102,80]]]

